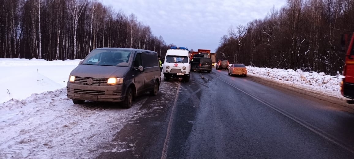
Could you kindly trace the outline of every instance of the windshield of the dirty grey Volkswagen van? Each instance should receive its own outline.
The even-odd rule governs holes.
[[[128,67],[131,51],[95,49],[82,62],[83,65]]]

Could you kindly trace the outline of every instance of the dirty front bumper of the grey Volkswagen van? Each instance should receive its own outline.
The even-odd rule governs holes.
[[[116,86],[90,86],[68,82],[67,96],[69,99],[91,101],[124,101],[123,85]]]

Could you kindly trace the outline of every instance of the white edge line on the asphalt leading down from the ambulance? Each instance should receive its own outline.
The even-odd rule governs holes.
[[[175,114],[175,107],[177,104],[177,99],[178,99],[178,92],[179,92],[179,87],[181,86],[181,84],[177,83],[177,92],[176,92],[176,98],[175,101],[173,101],[173,106],[172,106],[172,111],[171,111],[171,116],[170,116],[170,121],[169,121],[169,125],[167,126],[167,133],[166,133],[166,138],[165,138],[165,142],[164,142],[164,148],[162,148],[162,154],[161,154],[161,159],[166,159],[167,158],[167,150],[169,148],[169,142],[170,142],[170,136],[171,136],[171,126],[173,123],[173,115]]]

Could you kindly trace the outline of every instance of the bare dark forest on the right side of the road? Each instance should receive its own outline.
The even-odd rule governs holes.
[[[230,27],[218,59],[257,67],[342,71],[341,35],[354,31],[353,0],[287,0],[247,26]]]

